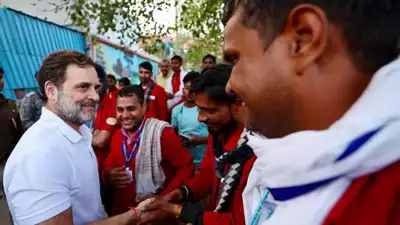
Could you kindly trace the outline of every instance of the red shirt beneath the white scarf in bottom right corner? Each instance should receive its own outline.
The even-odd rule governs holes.
[[[353,181],[324,225],[399,225],[400,161]]]

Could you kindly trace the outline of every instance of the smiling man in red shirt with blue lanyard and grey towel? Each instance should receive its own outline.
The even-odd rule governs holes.
[[[193,175],[193,159],[173,129],[145,114],[142,87],[121,89],[117,119],[122,129],[112,138],[103,172],[104,182],[115,186],[112,215],[140,199],[168,193]]]

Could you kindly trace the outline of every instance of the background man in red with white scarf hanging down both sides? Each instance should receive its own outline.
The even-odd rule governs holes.
[[[182,63],[183,59],[179,55],[171,58],[172,76],[168,79],[165,88],[168,95],[168,110],[172,110],[176,105],[183,102],[183,78],[185,78],[186,73],[182,71]]]

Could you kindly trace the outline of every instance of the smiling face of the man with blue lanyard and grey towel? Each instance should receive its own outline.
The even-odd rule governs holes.
[[[146,109],[146,104],[141,104],[136,95],[117,98],[117,120],[128,132],[140,126]]]

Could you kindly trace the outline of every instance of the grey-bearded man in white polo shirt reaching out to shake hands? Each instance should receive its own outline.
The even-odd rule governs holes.
[[[23,135],[4,176],[14,224],[132,224],[140,211],[102,220],[104,209],[91,132],[100,82],[79,52],[51,53],[39,69],[45,107]],[[97,222],[96,222],[97,221]]]

